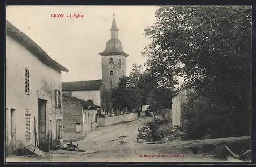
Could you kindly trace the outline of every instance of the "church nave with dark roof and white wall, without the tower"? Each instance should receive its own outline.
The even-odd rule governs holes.
[[[104,103],[104,83],[102,80],[62,82],[63,92],[84,101],[91,101],[102,107]]]

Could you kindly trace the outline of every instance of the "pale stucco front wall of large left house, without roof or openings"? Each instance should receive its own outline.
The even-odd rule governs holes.
[[[25,94],[25,68],[30,71],[30,94]],[[15,109],[16,143],[34,144],[34,117],[38,135],[38,98],[46,99],[46,124],[53,120],[53,140],[56,138],[56,119],[62,119],[59,109],[55,109],[54,89],[62,90],[61,72],[43,64],[37,57],[14,39],[6,37],[6,129],[10,148],[10,109]],[[61,99],[62,101],[62,99]],[[31,111],[31,137],[25,140],[25,109]]]

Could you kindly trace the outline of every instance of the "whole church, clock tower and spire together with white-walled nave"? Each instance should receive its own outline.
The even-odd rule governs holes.
[[[116,88],[119,78],[126,76],[126,57],[113,14],[110,39],[101,56],[102,79],[91,81],[62,82],[63,92],[82,100],[91,101],[105,111],[112,110],[111,89]]]

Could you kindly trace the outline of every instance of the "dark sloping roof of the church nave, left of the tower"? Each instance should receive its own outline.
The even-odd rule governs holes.
[[[62,91],[100,90],[102,80],[62,82]]]

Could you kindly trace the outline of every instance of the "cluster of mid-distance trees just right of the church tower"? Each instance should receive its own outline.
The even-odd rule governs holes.
[[[154,75],[143,71],[142,65],[133,64],[129,76],[119,79],[118,87],[112,90],[114,109],[128,107],[141,109],[142,105],[150,104],[152,111],[170,108],[172,91],[158,86]]]

